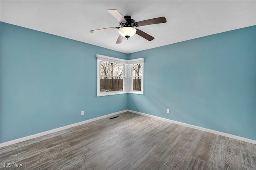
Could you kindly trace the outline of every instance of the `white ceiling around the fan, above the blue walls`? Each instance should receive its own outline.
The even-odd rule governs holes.
[[[132,53],[220,32],[256,25],[256,1],[0,1],[2,22],[70,38],[80,42]],[[116,44],[118,30],[90,33],[116,27],[119,22],[107,10],[117,9],[138,22],[164,16],[163,24],[139,29],[155,39],[134,35]]]

